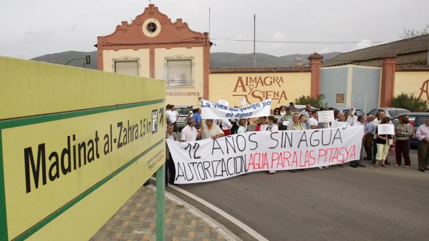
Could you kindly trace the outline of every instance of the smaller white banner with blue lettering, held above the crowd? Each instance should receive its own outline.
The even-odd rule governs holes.
[[[241,119],[270,115],[271,99],[251,104],[249,106],[233,108],[206,99],[201,100],[202,119]]]

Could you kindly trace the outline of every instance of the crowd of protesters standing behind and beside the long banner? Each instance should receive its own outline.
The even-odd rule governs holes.
[[[293,131],[293,130],[310,130],[318,128],[331,128],[331,122],[318,122],[318,111],[323,111],[325,108],[312,108],[309,104],[302,111],[298,111],[291,102],[289,106],[280,106],[271,110],[271,115],[259,117],[257,119],[222,119],[217,122],[213,119],[201,119],[200,109],[190,108],[190,113],[186,119],[186,124],[181,135],[173,135],[177,130],[176,120],[179,113],[176,112],[174,105],[167,105],[166,120],[167,120],[167,138],[174,139],[180,142],[193,142],[198,139],[217,139],[219,137],[244,133],[248,131],[251,123],[256,124],[255,131]],[[385,116],[384,110],[378,110],[376,115],[356,116],[354,110],[350,109],[348,113],[341,112],[334,108],[326,110],[334,110],[335,122],[341,126],[365,126],[362,140],[362,149],[360,150],[360,159],[350,162],[350,166],[365,167],[362,160],[370,160],[374,167],[387,167],[390,162],[387,161],[387,155],[393,152],[396,155],[396,163],[394,166],[401,166],[402,157],[405,162],[405,168],[410,168],[410,138],[417,137],[419,144],[417,146],[417,155],[419,160],[419,171],[429,170],[429,118],[425,124],[417,128],[414,133],[414,127],[410,124],[408,115],[400,115],[398,122],[394,126],[395,135],[378,135],[378,124],[392,124],[390,117]],[[366,157],[363,157],[363,153]],[[393,151],[394,150],[394,151]],[[170,184],[174,183],[174,163],[172,156],[166,153],[167,168],[170,173]],[[344,167],[345,164],[336,166]],[[329,166],[325,166],[327,168]],[[166,168],[166,172],[167,172]],[[319,167],[324,168],[324,167]],[[304,171],[304,169],[302,169]],[[295,171],[291,171],[295,172]],[[275,173],[275,171],[268,171]],[[171,179],[173,177],[173,179]],[[167,182],[167,175],[166,175]]]

